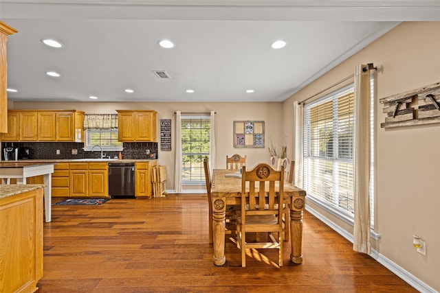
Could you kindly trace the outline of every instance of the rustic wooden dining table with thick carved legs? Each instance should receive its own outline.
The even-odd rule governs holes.
[[[284,183],[284,202],[290,210],[290,260],[302,263],[303,211],[306,192],[292,183]],[[225,261],[225,213],[231,204],[241,204],[241,176],[236,170],[214,169],[211,185],[212,231],[214,264],[222,266]]]

